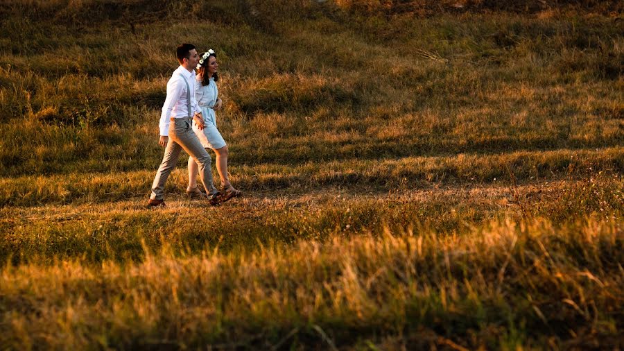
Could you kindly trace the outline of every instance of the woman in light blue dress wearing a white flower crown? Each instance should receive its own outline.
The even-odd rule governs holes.
[[[216,153],[216,167],[221,178],[220,202],[225,202],[242,192],[234,189],[227,178],[227,145],[216,128],[215,111],[220,110],[223,101],[218,99],[218,90],[215,82],[219,79],[216,54],[212,49],[202,53],[197,65],[198,74],[195,77],[195,99],[200,105],[204,117],[204,128],[200,130],[193,121],[193,130],[206,149],[211,148]],[[187,194],[191,197],[205,196],[197,187],[198,166],[192,157],[189,157],[189,187]]]

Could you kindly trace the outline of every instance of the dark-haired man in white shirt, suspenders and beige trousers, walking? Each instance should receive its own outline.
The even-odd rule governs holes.
[[[210,205],[219,203],[219,192],[214,187],[210,155],[202,146],[195,132],[192,121],[196,121],[200,129],[204,128],[204,119],[195,99],[195,70],[199,55],[193,44],[177,46],[177,61],[180,67],[173,71],[167,83],[167,97],[160,115],[160,139],[158,144],[165,147],[162,163],[156,172],[152,184],[152,193],[148,205],[164,206],[164,185],[171,171],[177,164],[180,151],[184,149],[198,164],[200,178],[206,191]]]

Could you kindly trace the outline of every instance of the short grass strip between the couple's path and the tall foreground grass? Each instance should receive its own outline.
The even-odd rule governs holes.
[[[385,227],[424,226],[462,235],[505,216],[565,223],[588,213],[621,220],[624,182],[590,178],[486,187],[371,192],[324,187],[309,194],[245,194],[220,207],[171,195],[164,209],[144,198],[116,203],[0,208],[0,261],[26,264],[82,257],[85,262],[142,259],[143,247],[198,253],[286,246],[332,235],[379,235]]]

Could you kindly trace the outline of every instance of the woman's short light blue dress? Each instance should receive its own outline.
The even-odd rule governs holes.
[[[200,79],[200,76],[196,76],[195,99],[202,109],[204,129],[200,130],[195,121],[193,121],[193,131],[205,148],[223,148],[225,140],[216,128],[216,114],[212,109],[217,101],[218,89],[213,78],[210,78],[210,83],[206,86],[202,85]]]

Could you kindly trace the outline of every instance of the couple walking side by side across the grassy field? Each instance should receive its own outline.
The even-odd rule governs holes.
[[[216,54],[211,49],[198,55],[193,44],[182,44],[177,46],[177,60],[180,67],[173,71],[167,83],[167,97],[159,123],[158,144],[165,148],[164,157],[156,172],[148,205],[164,206],[164,185],[182,149],[190,156],[187,194],[191,198],[208,198],[210,205],[218,205],[241,196],[241,191],[234,189],[227,177],[227,145],[216,128],[214,112],[223,105],[215,84],[218,80]],[[221,191],[214,187],[208,148],[216,153]],[[198,188],[198,171],[207,194]]]

